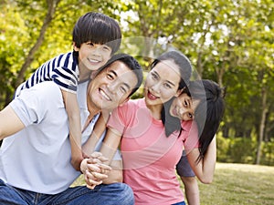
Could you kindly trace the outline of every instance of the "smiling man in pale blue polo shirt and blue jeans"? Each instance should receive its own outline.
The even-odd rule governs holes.
[[[82,143],[102,109],[116,108],[142,84],[142,68],[128,55],[111,57],[90,82],[79,85]],[[86,99],[86,100],[83,100]],[[43,82],[23,90],[0,112],[0,204],[133,204],[125,184],[106,178],[102,156],[92,155],[94,190],[68,188],[80,172],[70,164],[68,115],[58,86]],[[85,167],[85,166],[83,166]],[[82,168],[82,167],[81,167]],[[81,169],[86,175],[86,169]],[[99,181],[99,182],[98,182]],[[96,184],[97,182],[97,184]]]

